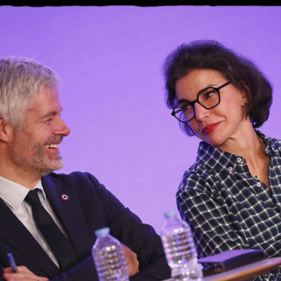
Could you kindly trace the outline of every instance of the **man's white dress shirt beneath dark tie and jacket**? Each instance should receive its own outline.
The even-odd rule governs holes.
[[[45,191],[42,187],[41,181],[39,181],[38,184],[35,187],[33,187],[33,189],[36,188],[39,189],[38,196],[43,207],[48,211],[48,213],[54,219],[54,221],[59,226],[63,234],[65,234],[65,231],[63,230],[61,223],[59,222],[56,215],[51,209]],[[47,255],[51,258],[51,260],[58,267],[60,267],[56,256],[54,255],[45,237],[41,234],[34,221],[31,206],[29,205],[29,203],[24,201],[29,191],[30,191],[29,188],[19,185],[15,182],[12,182],[0,176],[0,198],[3,199],[3,201],[7,204],[7,206],[16,215],[16,217],[33,235],[33,237],[37,240],[40,246],[46,251]],[[65,236],[67,235],[65,234]]]

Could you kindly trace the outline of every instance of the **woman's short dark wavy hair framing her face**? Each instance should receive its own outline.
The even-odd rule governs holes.
[[[198,40],[182,44],[166,58],[162,70],[165,79],[166,105],[173,109],[176,105],[175,82],[195,69],[212,69],[232,81],[234,87],[247,94],[246,115],[254,128],[264,124],[269,116],[272,103],[270,81],[248,58],[224,47],[213,40]],[[193,136],[188,123],[181,123],[182,130]]]

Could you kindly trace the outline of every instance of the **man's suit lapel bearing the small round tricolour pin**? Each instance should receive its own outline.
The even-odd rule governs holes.
[[[50,176],[44,176],[41,181],[49,203],[60,219],[80,260],[85,259],[91,253],[93,242],[75,188],[66,186],[61,180]]]

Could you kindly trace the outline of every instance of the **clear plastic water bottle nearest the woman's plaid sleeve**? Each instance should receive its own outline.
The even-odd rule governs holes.
[[[176,217],[176,211],[164,214],[161,240],[168,265],[175,281],[201,281],[202,266],[197,262],[197,251],[189,225]]]

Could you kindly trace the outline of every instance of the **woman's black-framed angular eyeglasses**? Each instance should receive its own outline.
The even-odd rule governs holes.
[[[218,88],[208,87],[200,91],[197,95],[197,99],[190,102],[187,100],[180,101],[173,109],[172,116],[182,123],[187,123],[195,117],[194,104],[197,102],[205,109],[212,109],[216,107],[220,102],[219,90],[232,81],[229,81]]]

